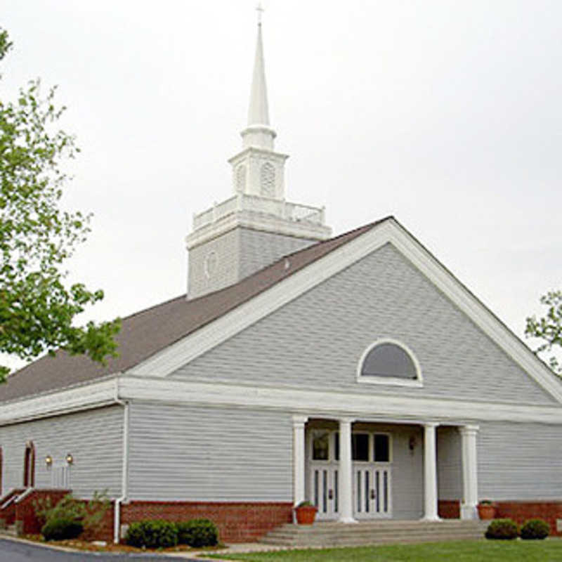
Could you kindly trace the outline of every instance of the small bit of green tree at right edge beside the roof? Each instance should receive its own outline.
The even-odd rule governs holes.
[[[551,291],[541,296],[540,302],[547,306],[547,313],[538,319],[536,316],[527,318],[525,328],[525,336],[542,340],[534,351],[536,355],[552,351],[553,347],[562,347],[562,291]],[[549,358],[549,365],[558,377],[562,377],[562,365],[555,355]]]

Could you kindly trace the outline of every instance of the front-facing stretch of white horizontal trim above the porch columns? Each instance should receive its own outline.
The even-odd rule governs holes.
[[[119,398],[168,404],[279,410],[307,417],[452,425],[468,421],[514,421],[562,425],[560,406],[523,406],[442,398],[367,395],[341,391],[178,381],[160,377],[120,377]]]

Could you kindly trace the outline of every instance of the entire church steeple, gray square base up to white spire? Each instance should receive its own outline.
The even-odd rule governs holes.
[[[233,196],[193,216],[188,299],[223,289],[286,254],[328,238],[324,209],[285,199],[285,162],[275,152],[258,8],[258,37],[242,150],[230,158]]]

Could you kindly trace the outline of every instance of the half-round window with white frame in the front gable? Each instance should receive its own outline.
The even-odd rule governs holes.
[[[375,341],[363,353],[358,380],[374,384],[422,386],[421,369],[412,351],[399,341]]]

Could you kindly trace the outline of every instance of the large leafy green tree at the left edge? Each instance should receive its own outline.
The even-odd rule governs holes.
[[[10,48],[0,29],[0,60]],[[65,107],[55,106],[55,89],[41,97],[39,86],[30,81],[13,103],[0,100],[0,352],[30,360],[63,348],[104,363],[117,355],[120,323],[73,325],[103,292],[65,284],[63,263],[85,240],[90,216],[60,209],[69,179],[61,163],[78,149],[56,130]],[[7,374],[0,366],[0,381]]]

